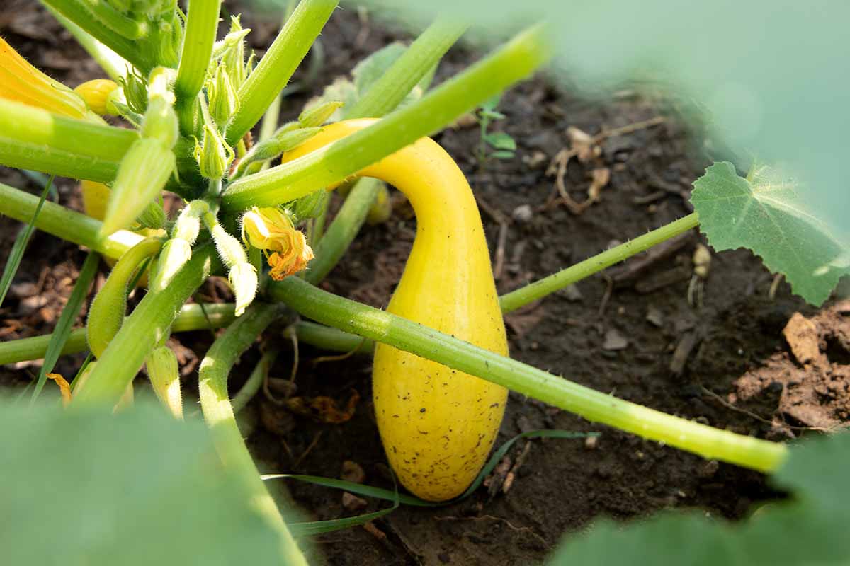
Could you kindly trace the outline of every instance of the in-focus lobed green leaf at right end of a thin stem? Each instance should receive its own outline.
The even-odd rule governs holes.
[[[751,249],[813,305],[850,274],[850,236],[815,216],[804,188],[776,169],[760,165],[744,178],[715,163],[694,182],[691,203],[714,249]]]

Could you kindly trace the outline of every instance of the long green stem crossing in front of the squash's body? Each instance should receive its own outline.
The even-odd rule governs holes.
[[[327,293],[298,277],[271,283],[269,294],[317,322],[437,361],[589,421],[658,440],[702,457],[771,472],[787,455],[784,445],[714,429],[622,401],[416,322]]]

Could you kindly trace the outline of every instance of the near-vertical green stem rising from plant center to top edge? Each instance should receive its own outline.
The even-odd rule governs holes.
[[[185,125],[194,123],[195,98],[207,78],[220,10],[221,0],[191,0],[189,3],[183,51],[180,53],[177,82],[174,83],[177,111],[185,133],[192,133],[192,128]]]

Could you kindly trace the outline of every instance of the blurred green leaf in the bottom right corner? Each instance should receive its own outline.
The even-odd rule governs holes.
[[[738,523],[706,513],[665,513],[623,527],[598,521],[586,535],[568,535],[549,566],[839,566],[850,563],[850,435],[791,448],[775,484],[791,490]]]

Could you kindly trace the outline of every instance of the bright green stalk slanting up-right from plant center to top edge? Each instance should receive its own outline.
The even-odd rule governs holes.
[[[227,143],[235,146],[286,87],[338,3],[337,0],[302,0],[298,4],[269,51],[239,89],[240,108],[228,126]]]

